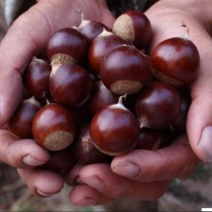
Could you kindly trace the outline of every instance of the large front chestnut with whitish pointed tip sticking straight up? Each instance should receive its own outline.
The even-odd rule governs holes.
[[[132,150],[138,141],[139,123],[120,101],[94,115],[89,125],[90,137],[101,152],[117,156]]]

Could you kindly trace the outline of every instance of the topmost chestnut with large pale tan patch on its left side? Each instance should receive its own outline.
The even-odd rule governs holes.
[[[115,20],[112,32],[138,49],[149,47],[153,37],[150,20],[144,13],[135,10],[121,14]]]

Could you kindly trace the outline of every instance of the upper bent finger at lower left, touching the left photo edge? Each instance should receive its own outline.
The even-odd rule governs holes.
[[[16,167],[30,168],[49,160],[49,154],[32,139],[18,140],[8,130],[0,130],[0,160]]]

